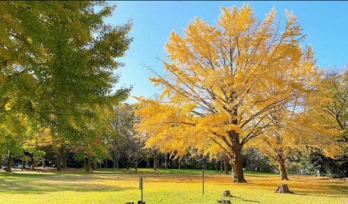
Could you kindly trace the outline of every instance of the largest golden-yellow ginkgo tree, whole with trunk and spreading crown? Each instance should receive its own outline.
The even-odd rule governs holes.
[[[262,21],[250,6],[234,6],[221,8],[214,26],[196,18],[184,35],[173,31],[165,46],[166,73],[148,67],[155,73],[150,81],[163,87],[161,96],[138,98],[138,128],[149,135],[147,145],[178,153],[223,151],[232,162],[232,181],[246,182],[244,146],[274,126],[269,114],[319,77],[310,47],[301,49],[296,17],[285,17],[278,22],[271,10]]]

